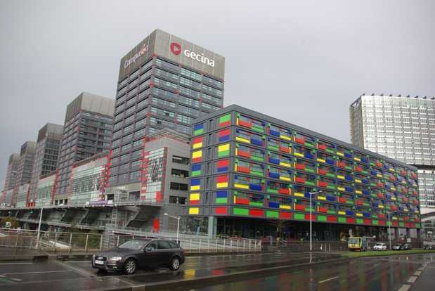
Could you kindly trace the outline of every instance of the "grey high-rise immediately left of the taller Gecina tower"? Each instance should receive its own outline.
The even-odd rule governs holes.
[[[53,204],[67,204],[73,164],[110,148],[115,100],[83,92],[68,106]]]

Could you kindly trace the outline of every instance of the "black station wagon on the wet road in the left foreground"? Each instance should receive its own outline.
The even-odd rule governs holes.
[[[92,256],[92,266],[104,271],[124,271],[130,275],[145,267],[165,267],[176,271],[184,259],[184,250],[173,240],[133,239],[115,249],[97,252]]]

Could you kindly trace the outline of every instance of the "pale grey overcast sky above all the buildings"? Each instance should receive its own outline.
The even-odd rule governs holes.
[[[0,0],[0,190],[8,158],[82,91],[115,98],[156,28],[226,58],[224,105],[350,142],[361,94],[435,96],[435,1]]]

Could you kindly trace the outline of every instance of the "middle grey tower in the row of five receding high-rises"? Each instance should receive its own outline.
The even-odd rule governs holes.
[[[29,197],[27,198],[28,207],[35,205],[39,178],[56,171],[62,136],[63,125],[60,124],[47,123],[39,130],[37,153],[34,157]]]

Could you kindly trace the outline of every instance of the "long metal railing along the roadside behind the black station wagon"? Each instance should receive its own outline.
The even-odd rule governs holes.
[[[46,252],[96,252],[108,248],[106,242],[120,245],[131,238],[147,235],[110,233],[58,233],[0,228],[0,247],[37,249]],[[154,238],[171,238],[153,235]],[[171,238],[176,240],[176,238]],[[259,252],[260,240],[240,238],[178,238],[186,252]]]

